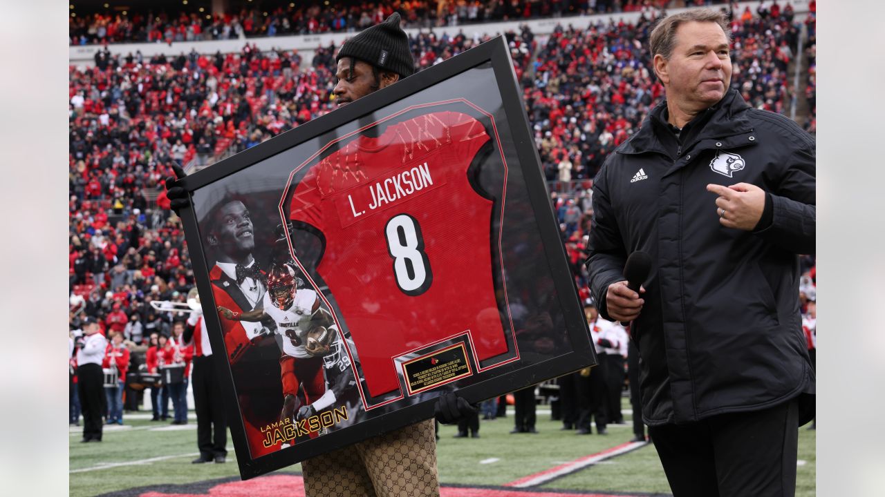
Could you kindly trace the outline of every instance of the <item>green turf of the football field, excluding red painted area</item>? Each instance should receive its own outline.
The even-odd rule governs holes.
[[[629,409],[626,401],[625,409]],[[512,413],[506,418],[482,421],[480,439],[453,439],[457,428],[441,426],[437,456],[443,485],[504,485],[632,438],[630,424],[611,425],[606,436],[560,432],[560,423],[550,421],[548,412],[546,406],[539,407],[538,434],[508,433],[512,429]],[[102,443],[89,444],[81,444],[80,433],[71,432],[70,494],[86,497],[140,486],[236,477],[239,472],[233,450],[226,464],[190,463],[196,457],[195,423],[191,419],[188,429],[172,430],[165,423],[130,417],[126,420],[127,428],[105,430]],[[814,434],[804,428],[799,432],[797,496],[801,497],[815,495]],[[228,448],[232,444],[228,438]],[[298,470],[296,465],[283,471]],[[540,488],[669,493],[658,455],[651,446],[552,480]]]

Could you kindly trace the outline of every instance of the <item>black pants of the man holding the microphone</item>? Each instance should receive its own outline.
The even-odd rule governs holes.
[[[650,426],[673,497],[792,497],[798,403]]]

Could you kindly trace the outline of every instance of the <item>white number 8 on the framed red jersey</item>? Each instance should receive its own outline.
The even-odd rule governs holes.
[[[404,294],[416,296],[427,292],[433,281],[430,262],[424,252],[424,238],[418,220],[408,214],[397,214],[384,227],[388,252],[393,257],[396,286]]]

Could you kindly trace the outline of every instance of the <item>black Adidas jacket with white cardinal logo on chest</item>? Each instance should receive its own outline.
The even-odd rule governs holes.
[[[611,319],[604,295],[624,279],[627,256],[654,261],[631,329],[643,420],[688,423],[813,394],[798,255],[814,253],[814,140],[735,90],[679,136],[662,102],[593,185],[588,265],[602,317]],[[740,182],[766,190],[753,232],[721,226],[718,195],[706,191]]]

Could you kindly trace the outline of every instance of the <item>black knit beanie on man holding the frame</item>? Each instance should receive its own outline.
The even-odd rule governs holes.
[[[408,78],[415,73],[415,61],[409,50],[409,36],[399,27],[399,20],[399,12],[394,12],[381,24],[360,31],[344,42],[335,62],[342,57],[353,57]]]

